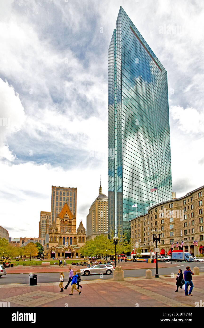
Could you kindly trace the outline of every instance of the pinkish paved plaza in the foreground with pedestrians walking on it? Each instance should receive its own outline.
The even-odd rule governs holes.
[[[84,280],[82,293],[70,285],[60,292],[59,283],[0,285],[0,301],[10,302],[11,307],[195,307],[204,299],[204,274],[193,276],[193,296],[185,296],[182,289],[175,293],[176,276],[159,278],[125,278]],[[65,286],[65,282],[64,282]]]

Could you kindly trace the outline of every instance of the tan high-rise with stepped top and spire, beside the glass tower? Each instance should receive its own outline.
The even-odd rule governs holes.
[[[102,194],[100,186],[99,195],[91,204],[86,216],[86,240],[102,234],[108,236],[108,196]]]

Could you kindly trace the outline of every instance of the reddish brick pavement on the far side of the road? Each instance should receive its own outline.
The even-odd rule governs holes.
[[[71,264],[70,264],[71,265]],[[118,263],[122,267],[122,270],[132,270],[132,269],[155,269],[156,263],[146,263],[146,262],[122,262]],[[178,263],[173,262],[158,262],[158,268],[168,268],[168,267],[175,267]],[[87,266],[78,266],[78,265],[71,265],[74,271],[78,269],[87,268]],[[50,266],[41,266],[41,265],[18,265],[13,268],[6,268],[7,273],[50,273],[50,272],[68,272],[69,265],[65,265],[63,268],[59,267],[59,265],[50,265]]]

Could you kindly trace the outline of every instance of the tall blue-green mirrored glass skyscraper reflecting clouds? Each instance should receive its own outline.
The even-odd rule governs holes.
[[[108,51],[109,231],[172,198],[167,72],[120,8]],[[157,187],[157,191],[150,190]]]

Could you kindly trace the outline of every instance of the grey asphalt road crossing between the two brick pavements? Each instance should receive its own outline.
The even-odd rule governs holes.
[[[189,265],[191,270],[193,270],[194,266],[198,266],[200,269],[200,272],[204,272],[204,262],[202,263],[178,263],[178,266],[173,267],[171,266],[170,262],[166,262],[167,268],[159,268],[158,274],[163,276],[171,276],[172,273],[177,274],[178,269],[181,269],[184,271],[186,269],[186,266]],[[124,270],[124,278],[133,278],[133,277],[145,277],[145,271],[147,269],[133,269],[133,270]],[[156,269],[151,269],[152,275],[155,275]],[[59,273],[38,273],[37,274],[37,281],[38,283],[42,282],[58,282],[59,281]],[[68,281],[68,272],[65,273],[65,279],[64,281]],[[101,279],[100,275],[91,275],[91,276],[82,276],[83,280],[97,280]],[[111,275],[103,275],[103,279],[113,279],[113,274]],[[7,274],[5,276],[2,276],[0,279],[0,285],[1,284],[28,284],[29,283],[29,276],[28,273],[18,273],[18,274]]]

